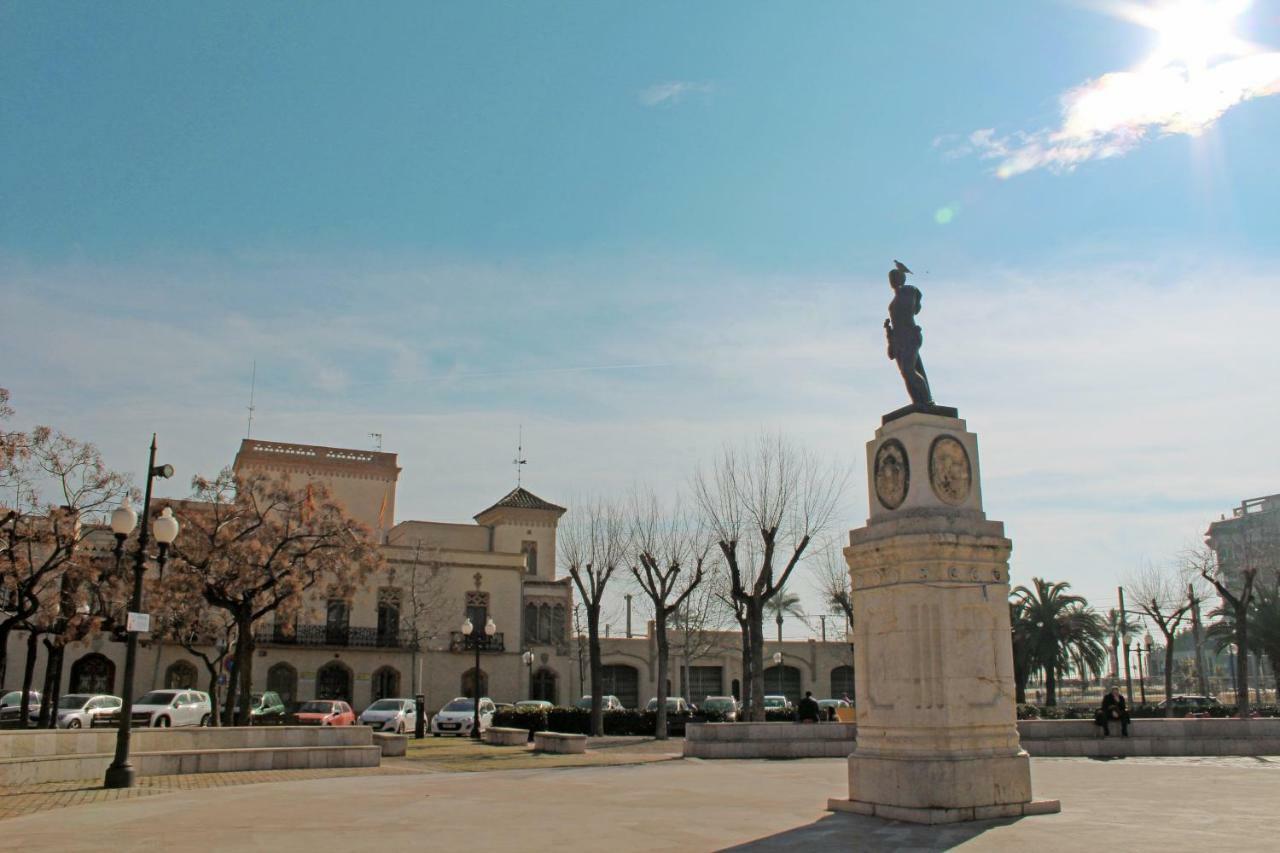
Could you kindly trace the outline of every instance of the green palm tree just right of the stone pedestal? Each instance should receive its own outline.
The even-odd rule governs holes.
[[[1106,631],[1089,603],[1068,592],[1071,584],[1033,578],[1032,585],[1014,589],[1021,607],[1025,654],[1029,670],[1044,674],[1044,703],[1057,704],[1059,676],[1070,671],[1073,657],[1094,671],[1102,669]],[[1018,630],[1015,626],[1015,644]]]

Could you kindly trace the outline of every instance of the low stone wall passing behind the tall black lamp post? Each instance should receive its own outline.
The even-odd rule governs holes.
[[[101,779],[115,730],[0,733],[0,785]],[[140,776],[376,767],[381,751],[367,726],[136,729],[131,761]]]

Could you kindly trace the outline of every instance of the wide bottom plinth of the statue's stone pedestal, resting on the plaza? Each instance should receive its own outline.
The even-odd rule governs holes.
[[[1057,800],[1032,802],[1030,758],[983,757],[849,757],[849,799],[828,808],[876,815],[915,824],[951,824],[1044,815]]]

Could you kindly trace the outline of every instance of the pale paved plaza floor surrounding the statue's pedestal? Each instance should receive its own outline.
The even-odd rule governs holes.
[[[392,770],[392,767],[388,767]],[[1280,758],[1044,758],[1062,813],[945,827],[823,809],[842,760],[380,772],[177,790],[0,821],[0,850],[1275,849]]]

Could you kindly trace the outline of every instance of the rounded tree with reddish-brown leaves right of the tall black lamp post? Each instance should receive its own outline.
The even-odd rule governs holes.
[[[243,722],[255,625],[268,615],[288,625],[312,589],[349,597],[381,557],[367,529],[329,501],[323,485],[296,489],[285,478],[238,478],[224,470],[212,480],[195,478],[192,488],[193,501],[174,505],[183,535],[170,571],[192,575],[205,602],[236,622],[236,679],[228,684],[224,713]]]

